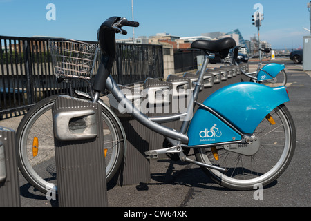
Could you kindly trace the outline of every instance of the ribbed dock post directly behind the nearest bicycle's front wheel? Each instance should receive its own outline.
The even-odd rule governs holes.
[[[119,88],[136,108],[145,111],[145,109],[142,109],[144,107],[141,106],[144,99],[141,96],[142,90],[140,88],[131,88],[121,85],[119,85]],[[119,103],[115,97],[109,94],[108,98],[111,108],[120,118],[127,138],[124,162],[114,180],[120,186],[149,182],[150,165],[149,160],[144,157],[144,151],[149,150],[149,143],[146,142],[146,140],[148,140],[149,129],[144,128],[144,126],[140,125],[140,123],[129,114],[120,113]]]

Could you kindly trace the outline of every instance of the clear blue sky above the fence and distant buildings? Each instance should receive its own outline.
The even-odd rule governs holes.
[[[48,21],[46,6],[55,4],[56,20]],[[273,48],[299,48],[310,29],[307,0],[133,0],[135,37],[167,32],[189,37],[238,28],[244,39],[257,33],[254,5],[263,6],[261,40]],[[67,37],[96,41],[97,28],[108,17],[132,19],[131,0],[0,0],[0,35]],[[126,28],[133,37],[132,28]],[[119,38],[124,38],[118,36]]]

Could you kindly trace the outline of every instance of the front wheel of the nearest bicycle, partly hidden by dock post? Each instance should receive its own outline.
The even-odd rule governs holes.
[[[53,121],[51,113],[51,108],[57,97],[58,95],[47,97],[30,108],[17,128],[17,158],[19,170],[23,177],[42,193],[47,193],[53,188],[55,188],[53,190],[57,193],[55,155],[53,155]],[[108,183],[122,164],[124,157],[124,137],[120,125],[104,106],[102,106],[102,118],[104,136],[107,137],[110,135],[113,141],[115,141],[109,143],[109,141],[107,142],[107,139],[105,139],[105,145],[106,143],[107,145],[113,145],[113,149],[109,149],[105,158],[106,182]],[[36,126],[40,126],[40,128]],[[31,156],[32,133],[41,136],[41,140],[39,139],[39,151],[41,151],[43,155],[36,160],[33,160],[35,157],[32,158]]]

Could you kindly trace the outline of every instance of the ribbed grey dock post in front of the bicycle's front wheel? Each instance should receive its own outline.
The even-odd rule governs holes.
[[[73,97],[53,106],[59,206],[108,204],[101,117],[100,104]]]

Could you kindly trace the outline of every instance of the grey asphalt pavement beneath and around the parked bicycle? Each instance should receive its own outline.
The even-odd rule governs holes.
[[[194,207],[310,207],[310,73],[303,71],[302,64],[276,62],[285,64],[288,73],[290,102],[286,106],[296,125],[296,152],[283,175],[263,189],[262,199],[256,199],[255,190],[232,191],[219,186],[194,164],[161,159],[151,160],[151,182],[108,186],[109,207],[182,207],[183,211]],[[252,62],[249,67],[256,70]],[[21,117],[3,120],[0,125],[16,130]],[[19,181],[21,206],[59,206],[58,200],[47,200],[22,175]]]

